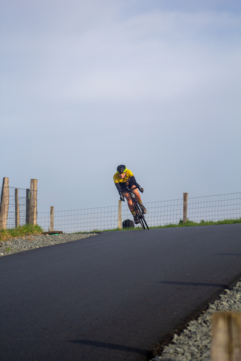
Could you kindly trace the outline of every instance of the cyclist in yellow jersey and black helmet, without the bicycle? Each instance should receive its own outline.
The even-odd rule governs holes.
[[[125,201],[125,198],[127,199],[128,207],[134,217],[134,223],[138,224],[139,220],[138,220],[137,214],[134,210],[132,199],[130,197],[130,193],[129,193],[129,190],[127,187],[130,187],[131,189],[134,187],[137,187],[137,188],[139,188],[141,193],[143,193],[144,190],[137,183],[132,171],[130,171],[130,169],[127,169],[125,167],[125,165],[123,165],[123,164],[118,165],[116,170],[117,170],[117,172],[116,172],[116,174],[114,174],[113,178],[114,178],[114,183],[116,185],[116,188],[120,194],[120,201]],[[139,203],[142,213],[146,214],[147,210],[142,204],[141,195],[139,194],[139,190],[137,188],[135,190],[133,190],[133,192],[137,198],[137,201]]]

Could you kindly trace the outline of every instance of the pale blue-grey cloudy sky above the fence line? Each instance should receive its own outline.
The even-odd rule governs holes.
[[[38,212],[240,192],[238,0],[1,0],[0,182]]]

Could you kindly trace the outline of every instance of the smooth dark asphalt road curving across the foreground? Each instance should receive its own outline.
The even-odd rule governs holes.
[[[0,259],[1,361],[139,361],[241,275],[241,224],[106,232]]]

